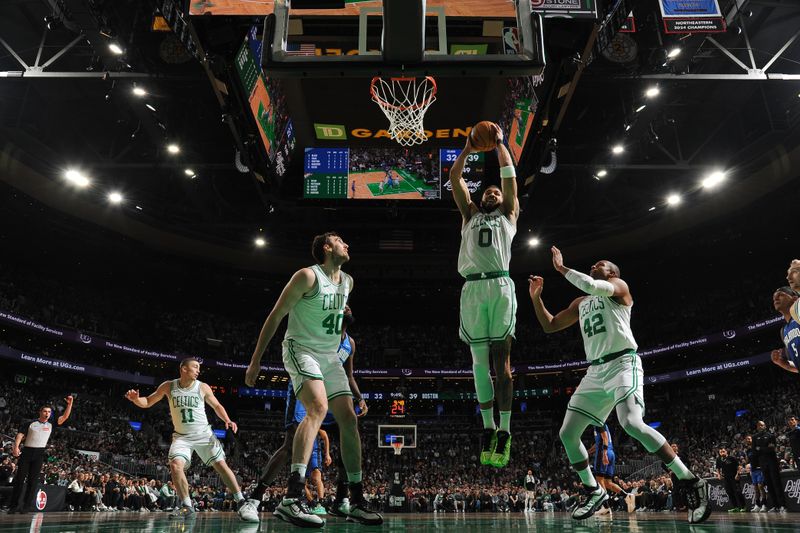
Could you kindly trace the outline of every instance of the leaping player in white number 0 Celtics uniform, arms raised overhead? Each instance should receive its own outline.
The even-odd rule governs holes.
[[[460,337],[472,353],[475,391],[483,419],[480,461],[502,468],[511,455],[511,341],[516,325],[517,298],[508,275],[511,241],[517,233],[519,202],[511,155],[503,145],[503,133],[493,125],[500,162],[501,187],[490,185],[480,205],[469,195],[462,172],[473,152],[469,137],[450,169],[453,199],[461,212],[461,248],[458,273],[466,280],[461,289]],[[497,376],[500,428],[494,418],[495,388],[489,361]]]

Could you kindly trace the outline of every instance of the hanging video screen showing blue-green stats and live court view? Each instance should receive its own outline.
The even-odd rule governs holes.
[[[439,154],[416,148],[306,148],[303,198],[438,200]]]

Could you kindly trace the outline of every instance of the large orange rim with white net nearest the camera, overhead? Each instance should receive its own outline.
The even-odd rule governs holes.
[[[428,140],[422,120],[436,101],[436,80],[424,78],[389,78],[375,76],[369,84],[372,101],[389,119],[389,136],[403,146]],[[399,452],[398,452],[399,453]]]

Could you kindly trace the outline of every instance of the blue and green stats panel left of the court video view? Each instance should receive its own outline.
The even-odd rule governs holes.
[[[347,148],[306,148],[303,196],[347,198],[349,161]]]

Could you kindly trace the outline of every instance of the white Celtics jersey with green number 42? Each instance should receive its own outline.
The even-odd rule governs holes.
[[[578,324],[587,361],[638,348],[631,331],[631,307],[618,304],[609,296],[587,296],[581,300]]]

